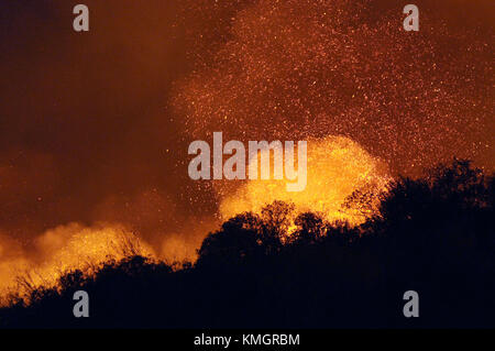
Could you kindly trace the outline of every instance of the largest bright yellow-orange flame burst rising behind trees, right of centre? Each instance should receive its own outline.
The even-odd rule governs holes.
[[[319,212],[329,221],[362,223],[377,205],[376,194],[391,180],[386,167],[356,142],[343,136],[308,141],[308,175],[306,189],[286,190],[287,179],[249,180],[234,193],[222,196],[220,215],[230,218],[243,211],[260,213],[275,200],[292,202],[295,212]],[[219,190],[223,193],[223,190]],[[367,194],[362,201],[356,194]]]

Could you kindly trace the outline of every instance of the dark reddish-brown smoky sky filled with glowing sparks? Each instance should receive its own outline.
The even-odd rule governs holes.
[[[85,0],[76,33],[79,2],[2,1],[0,230],[189,228],[218,205],[187,176],[212,131],[342,134],[394,174],[493,171],[494,2],[431,2],[405,33],[397,1]]]

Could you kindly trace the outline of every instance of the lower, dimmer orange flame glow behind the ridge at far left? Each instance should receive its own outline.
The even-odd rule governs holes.
[[[154,251],[119,226],[87,228],[78,223],[59,226],[35,241],[33,253],[18,250],[12,242],[0,242],[0,295],[15,292],[23,296],[30,287],[55,287],[67,272],[96,273],[106,262],[132,254],[154,257]],[[0,300],[0,305],[4,303]]]

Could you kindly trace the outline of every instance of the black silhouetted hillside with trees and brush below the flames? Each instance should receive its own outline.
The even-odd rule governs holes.
[[[174,271],[142,256],[62,289],[33,288],[0,310],[4,327],[495,327],[494,177],[454,161],[399,178],[360,228],[290,205],[241,213],[210,233],[196,264]],[[90,318],[73,316],[73,294]],[[416,290],[420,317],[403,315]]]

